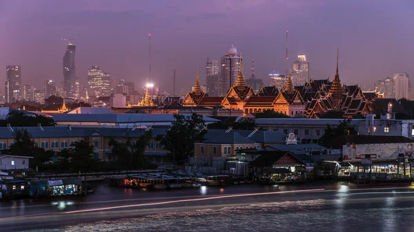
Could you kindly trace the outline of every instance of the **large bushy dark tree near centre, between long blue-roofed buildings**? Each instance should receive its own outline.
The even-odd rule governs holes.
[[[158,136],[165,149],[170,151],[172,162],[182,163],[194,155],[194,143],[201,141],[206,134],[203,116],[192,114],[183,116],[174,115],[175,122],[172,123],[166,135]]]

